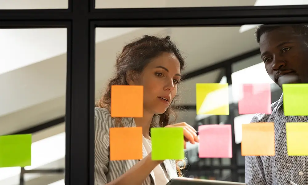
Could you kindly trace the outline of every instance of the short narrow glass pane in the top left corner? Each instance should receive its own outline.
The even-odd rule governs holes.
[[[0,10],[67,9],[68,0],[0,0]]]

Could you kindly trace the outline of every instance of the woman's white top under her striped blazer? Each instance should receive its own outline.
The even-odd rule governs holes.
[[[145,149],[147,150],[147,153],[150,153],[152,151],[152,142],[149,139],[144,138],[144,136],[142,136],[142,143],[145,147]],[[168,174],[166,171],[166,168],[164,166],[164,163],[160,163],[160,165],[157,165],[154,169],[154,182],[156,185],[166,185],[169,180],[168,180]]]

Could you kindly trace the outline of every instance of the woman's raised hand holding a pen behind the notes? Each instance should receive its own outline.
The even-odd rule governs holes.
[[[195,142],[199,142],[198,136],[196,134],[196,130],[188,125],[185,122],[176,123],[172,125],[167,125],[165,127],[182,127],[184,130],[184,149],[186,149],[186,142],[190,142],[192,144],[195,144]]]

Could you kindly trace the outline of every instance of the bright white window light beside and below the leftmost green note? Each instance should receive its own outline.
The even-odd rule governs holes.
[[[65,157],[65,132],[39,140],[31,145],[32,170]],[[20,167],[0,168],[0,181],[20,174]],[[0,183],[1,184],[1,183]]]

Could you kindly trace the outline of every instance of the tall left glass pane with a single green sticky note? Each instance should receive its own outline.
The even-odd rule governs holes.
[[[19,184],[21,170],[24,184],[59,181],[65,169],[67,29],[0,29],[0,48],[0,137],[13,141],[17,134],[31,134],[28,147],[14,140],[6,150],[12,156],[13,147],[26,148],[19,155],[31,150],[31,163],[21,168],[17,158],[12,166],[0,162],[0,184]],[[40,129],[44,125],[50,126]]]

